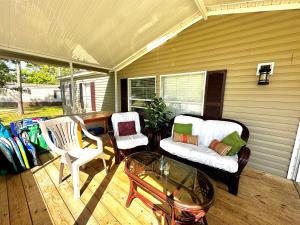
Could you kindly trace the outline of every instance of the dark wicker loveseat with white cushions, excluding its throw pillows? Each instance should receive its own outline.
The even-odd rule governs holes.
[[[192,124],[192,134],[198,135],[198,146],[175,142],[172,139],[173,124]],[[249,131],[238,121],[219,119],[209,120],[200,116],[176,116],[169,124],[168,135],[160,141],[163,154],[176,158],[203,170],[213,178],[227,184],[229,192],[237,194],[240,174],[248,162],[250,149],[243,147],[237,155],[221,156],[208,148],[213,139],[222,140],[228,134],[237,131],[247,142]]]

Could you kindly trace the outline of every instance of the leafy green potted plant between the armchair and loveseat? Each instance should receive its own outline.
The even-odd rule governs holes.
[[[171,112],[167,110],[166,103],[161,97],[154,96],[146,110],[145,127],[152,134],[152,144],[156,146],[159,142],[161,132],[168,126]]]

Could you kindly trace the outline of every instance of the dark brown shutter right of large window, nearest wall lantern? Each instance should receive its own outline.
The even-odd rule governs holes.
[[[226,70],[207,72],[204,117],[211,119],[222,118],[226,74]]]

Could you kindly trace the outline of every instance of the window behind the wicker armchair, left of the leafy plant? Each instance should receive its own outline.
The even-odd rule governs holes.
[[[155,77],[129,79],[129,111],[143,111],[153,96],[155,96]]]

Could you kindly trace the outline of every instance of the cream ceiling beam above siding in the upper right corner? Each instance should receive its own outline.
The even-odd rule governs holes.
[[[215,10],[215,11],[208,11],[208,16],[238,14],[238,13],[252,13],[252,12],[268,12],[268,11],[291,10],[291,9],[300,9],[300,3],[264,5],[264,6],[255,6],[255,7],[242,7],[242,8]]]

